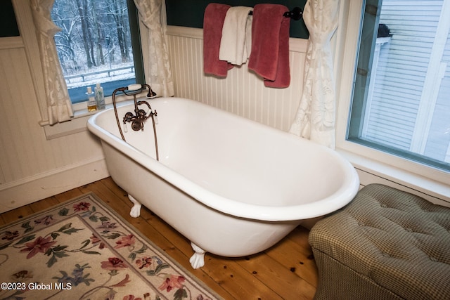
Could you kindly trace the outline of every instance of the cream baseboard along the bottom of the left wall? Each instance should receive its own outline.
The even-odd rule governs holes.
[[[0,213],[108,176],[106,162],[102,157],[0,185]]]

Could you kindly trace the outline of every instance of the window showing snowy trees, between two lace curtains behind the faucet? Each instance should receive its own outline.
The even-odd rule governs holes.
[[[62,31],[56,49],[72,103],[100,83],[105,96],[144,83],[139,25],[132,0],[56,0],[51,18]]]

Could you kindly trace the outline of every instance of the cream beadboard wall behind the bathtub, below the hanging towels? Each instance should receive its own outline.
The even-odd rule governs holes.
[[[194,28],[180,30],[175,26],[168,27],[167,44],[175,96],[198,100],[288,131],[302,94],[307,40],[291,39],[294,46],[290,50],[290,86],[287,89],[273,89],[264,86],[262,78],[248,70],[247,64],[233,67],[226,78],[205,75],[202,32]]]

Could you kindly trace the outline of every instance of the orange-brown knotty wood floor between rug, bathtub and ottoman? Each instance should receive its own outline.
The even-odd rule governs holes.
[[[193,270],[191,244],[158,216],[144,208],[139,218],[129,216],[127,193],[111,178],[75,188],[66,193],[1,214],[0,225],[23,218],[84,193],[94,192],[169,256],[203,280],[225,299],[312,299],[317,269],[308,244],[309,231],[295,228],[274,247],[250,257],[227,259],[205,255],[205,266]]]

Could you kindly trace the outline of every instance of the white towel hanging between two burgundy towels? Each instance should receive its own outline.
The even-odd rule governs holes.
[[[252,44],[252,15],[249,15],[252,10],[251,7],[233,6],[226,11],[219,60],[233,65],[242,65],[247,61]]]

